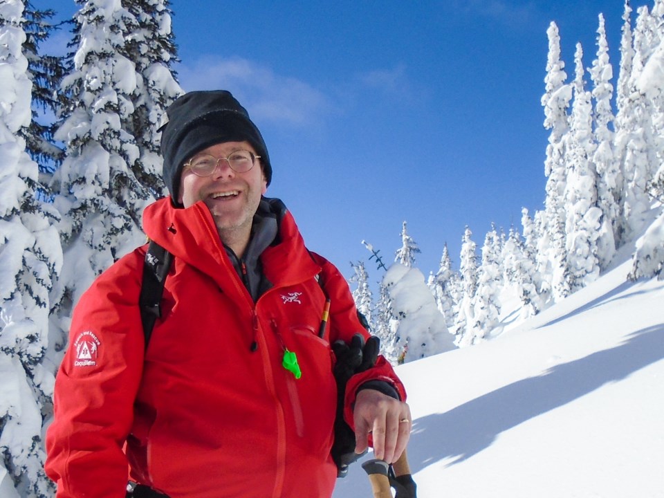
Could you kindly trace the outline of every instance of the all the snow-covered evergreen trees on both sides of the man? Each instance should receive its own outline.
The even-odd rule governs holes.
[[[70,24],[28,0],[0,2],[0,496],[51,497],[44,429],[55,372],[80,294],[145,240],[145,205],[165,193],[158,124],[181,95],[167,0],[85,1]],[[403,223],[394,263],[378,263],[371,294],[364,263],[351,278],[392,362],[487,340],[506,295],[522,318],[597,279],[628,243],[631,279],[664,264],[664,0],[636,15],[625,2],[617,77],[600,15],[588,70],[578,45],[565,72],[548,29],[542,210],[521,230],[493,227],[478,255],[470,228],[459,268],[447,248],[425,279]],[[71,53],[47,55],[55,30]],[[51,116],[52,118],[48,118]],[[374,257],[376,261],[374,261]]]

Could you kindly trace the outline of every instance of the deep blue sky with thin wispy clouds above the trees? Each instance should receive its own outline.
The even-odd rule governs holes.
[[[34,0],[69,17],[73,1]],[[634,8],[652,1],[632,0]],[[293,212],[309,248],[344,275],[366,239],[393,261],[403,221],[437,270],[458,265],[465,225],[479,248],[492,222],[521,228],[542,208],[542,127],[551,21],[573,76],[606,18],[614,82],[623,0],[173,0],[186,91],[228,89],[264,135],[268,196]],[[590,82],[589,75],[587,81]],[[382,276],[367,265],[372,281]]]

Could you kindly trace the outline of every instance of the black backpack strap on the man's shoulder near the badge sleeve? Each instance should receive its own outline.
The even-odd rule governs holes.
[[[161,317],[161,297],[166,276],[171,268],[173,255],[155,241],[150,241],[145,252],[143,281],[140,287],[140,321],[145,334],[145,349],[154,329],[154,322]]]

